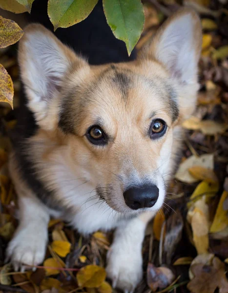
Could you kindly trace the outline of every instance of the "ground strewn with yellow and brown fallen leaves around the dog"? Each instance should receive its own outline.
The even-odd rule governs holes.
[[[138,49],[181,2],[149,0]],[[228,293],[228,4],[191,0],[201,15],[203,51],[200,92],[187,130],[176,178],[164,208],[146,230],[144,280],[137,293]],[[0,51],[0,63],[14,83],[14,111],[20,90],[16,46]],[[105,255],[112,232],[84,238],[58,220],[49,223],[45,261],[36,272],[14,272],[4,253],[17,222],[17,200],[7,172],[9,129],[16,124],[10,105],[0,105],[0,292],[110,293]]]

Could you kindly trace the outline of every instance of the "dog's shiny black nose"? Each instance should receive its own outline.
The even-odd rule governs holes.
[[[124,200],[130,209],[151,208],[158,200],[158,195],[156,185],[135,186],[124,191]]]

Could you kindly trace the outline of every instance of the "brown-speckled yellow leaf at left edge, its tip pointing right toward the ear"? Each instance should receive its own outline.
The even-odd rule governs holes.
[[[18,42],[23,36],[21,27],[11,20],[0,16],[0,48],[8,47]]]

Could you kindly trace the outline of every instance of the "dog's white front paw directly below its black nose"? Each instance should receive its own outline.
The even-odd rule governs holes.
[[[106,272],[112,280],[113,288],[124,293],[132,293],[143,277],[141,249],[121,246],[114,243],[107,254]]]

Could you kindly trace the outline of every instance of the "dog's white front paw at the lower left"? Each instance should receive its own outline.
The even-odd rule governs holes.
[[[11,261],[15,271],[23,271],[26,265],[37,266],[45,257],[46,241],[47,231],[18,230],[8,245],[6,260]]]

